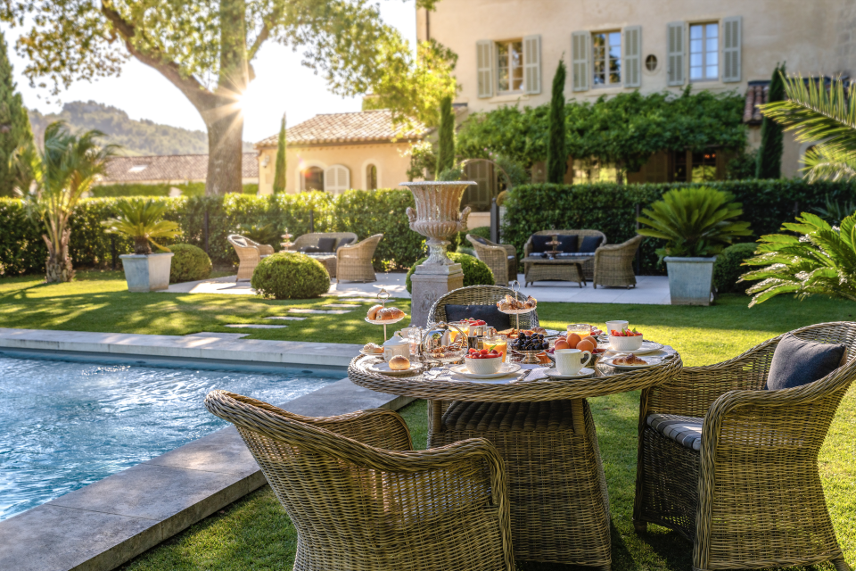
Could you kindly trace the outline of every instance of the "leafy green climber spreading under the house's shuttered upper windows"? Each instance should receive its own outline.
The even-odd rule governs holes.
[[[565,106],[567,150],[574,158],[597,158],[629,172],[658,151],[745,146],[744,98],[736,93],[634,91],[595,103],[571,100]],[[524,166],[547,159],[549,105],[506,106],[476,113],[457,137],[458,154],[484,158],[500,153]]]

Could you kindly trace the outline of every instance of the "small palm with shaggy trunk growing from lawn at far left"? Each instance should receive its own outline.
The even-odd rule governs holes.
[[[19,147],[10,160],[16,194],[29,216],[44,225],[47,244],[45,281],[68,282],[74,277],[69,257],[69,219],[117,145],[98,145],[97,130],[74,135],[62,121],[45,128],[45,147]]]

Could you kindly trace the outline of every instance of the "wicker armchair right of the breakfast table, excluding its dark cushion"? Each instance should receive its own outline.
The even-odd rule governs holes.
[[[709,367],[684,368],[642,393],[637,531],[665,525],[695,541],[695,569],[813,566],[849,571],[818,471],[820,445],[856,377],[856,323],[792,332],[844,343],[847,362],[809,385],[762,390],[781,335]],[[698,450],[648,426],[649,415],[701,425]],[[698,434],[697,432],[695,434]]]

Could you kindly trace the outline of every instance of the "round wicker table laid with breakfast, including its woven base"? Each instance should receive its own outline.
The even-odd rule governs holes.
[[[497,447],[508,478],[515,559],[610,569],[609,500],[588,399],[644,391],[679,374],[673,348],[654,356],[658,364],[632,370],[601,359],[588,378],[552,379],[537,365],[522,365],[539,378],[483,382],[438,375],[439,368],[391,377],[369,370],[377,358],[359,356],[348,377],[379,393],[428,401],[429,448],[467,438]]]

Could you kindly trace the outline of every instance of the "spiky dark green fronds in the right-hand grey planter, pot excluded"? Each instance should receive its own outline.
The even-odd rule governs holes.
[[[706,186],[670,190],[663,200],[642,211],[639,228],[642,236],[663,238],[658,249],[664,256],[707,257],[718,254],[737,236],[749,236],[748,222],[737,220],[743,205],[733,203],[734,194]]]

